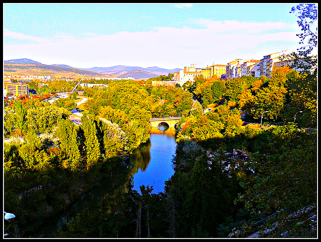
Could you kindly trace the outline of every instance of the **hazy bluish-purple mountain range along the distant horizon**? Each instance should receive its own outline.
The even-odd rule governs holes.
[[[47,72],[49,69],[52,69],[52,71],[54,71],[54,70],[63,71],[64,72],[63,76],[66,75],[66,73],[65,73],[66,71],[72,71],[72,72],[75,72],[78,74],[83,74],[84,71],[88,71],[89,76],[92,76],[95,73],[97,73],[99,76],[114,75],[117,77],[133,77],[135,79],[151,78],[151,77],[156,77],[159,75],[168,75],[169,73],[174,73],[174,72],[180,70],[180,68],[165,69],[165,68],[159,68],[157,66],[143,68],[143,67],[139,67],[139,66],[128,66],[128,65],[115,65],[115,66],[110,66],[110,67],[77,68],[77,67],[72,67],[72,66],[65,65],[65,64],[44,65],[38,61],[35,61],[32,59],[27,59],[27,58],[5,60],[4,63],[5,63],[5,72],[6,72],[6,67],[8,70],[7,72],[12,72],[13,70],[15,70],[15,68],[14,68],[15,64],[19,65],[18,69],[21,69],[23,67],[23,66],[21,66],[21,64],[28,64],[28,65],[37,65],[38,72],[39,72],[39,69],[45,69]],[[6,66],[6,64],[7,64],[7,66]],[[33,70],[33,69],[30,68],[30,71],[31,70]],[[30,74],[36,74],[36,73],[30,73]]]

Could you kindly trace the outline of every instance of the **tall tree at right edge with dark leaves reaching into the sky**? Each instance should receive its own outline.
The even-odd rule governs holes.
[[[287,103],[284,118],[292,119],[295,113],[303,111],[299,121],[304,126],[316,126],[317,113],[317,55],[313,55],[313,49],[317,47],[317,6],[315,4],[299,4],[292,7],[290,13],[296,13],[299,18],[298,25],[302,33],[297,34],[300,44],[303,44],[298,53],[288,56],[294,59],[292,67],[301,68],[300,73],[288,76],[286,88]]]

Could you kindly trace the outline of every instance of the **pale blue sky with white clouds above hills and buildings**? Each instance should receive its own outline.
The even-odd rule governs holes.
[[[206,67],[300,47],[292,4],[6,4],[4,60]]]

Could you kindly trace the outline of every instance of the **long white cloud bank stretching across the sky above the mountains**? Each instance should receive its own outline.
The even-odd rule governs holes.
[[[298,43],[296,32],[289,31],[292,26],[282,22],[202,20],[202,24],[206,28],[159,27],[152,32],[123,31],[100,36],[84,33],[82,35],[86,35],[85,38],[60,34],[51,42],[4,45],[4,56],[24,53],[21,57],[35,56],[34,60],[42,63],[48,63],[48,59],[53,58],[55,63],[84,68],[117,64],[182,68],[193,61],[206,65],[213,60],[226,63],[239,57],[256,58],[253,50],[256,46],[262,46],[262,43],[269,43],[260,49],[266,54],[282,50],[284,45],[280,43]],[[19,34],[10,36],[21,37]],[[247,56],[239,56],[240,53],[244,54],[245,49]]]

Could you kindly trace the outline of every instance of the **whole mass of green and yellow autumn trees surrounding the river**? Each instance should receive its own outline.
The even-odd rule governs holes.
[[[317,8],[299,4],[291,12],[309,26]],[[68,118],[76,105],[70,97],[4,101],[4,137],[24,140],[4,143],[4,209],[16,215],[5,232],[46,237],[44,223],[106,187],[50,236],[317,237],[317,58],[310,54],[317,39],[308,29],[298,36],[309,47],[291,56],[300,71],[200,75],[182,87],[152,86],[151,79],[85,87],[90,98],[79,125]],[[45,95],[72,84],[34,88]],[[148,141],[149,119],[159,116],[182,116],[175,173],[164,192],[142,185],[138,193],[127,156]],[[244,125],[253,120],[258,127]],[[263,128],[262,120],[272,125]]]

